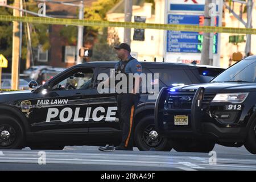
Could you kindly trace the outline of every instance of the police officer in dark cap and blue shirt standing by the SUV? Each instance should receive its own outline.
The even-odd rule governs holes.
[[[115,147],[115,150],[133,150],[133,136],[134,136],[134,114],[139,102],[139,80],[133,79],[129,81],[129,74],[135,74],[135,78],[142,73],[142,66],[137,59],[130,55],[131,48],[128,44],[122,43],[117,47],[114,47],[117,51],[117,57],[121,59],[115,65],[115,74],[122,74],[126,76],[126,85],[121,89],[122,92],[117,92],[117,107],[118,118],[122,129],[122,142],[119,146]],[[130,79],[131,80],[131,79]],[[101,151],[112,151],[113,146],[100,147]]]

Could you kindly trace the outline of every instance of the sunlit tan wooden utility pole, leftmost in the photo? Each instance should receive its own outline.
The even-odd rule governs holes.
[[[22,1],[15,0],[14,1],[14,7],[17,7],[18,9],[21,9],[20,7],[22,5]],[[14,16],[20,16],[19,10],[14,9],[13,10]],[[21,22],[20,22],[21,23]],[[13,59],[12,59],[12,65],[11,65],[11,89],[17,90],[19,88],[19,60],[20,60],[20,31],[22,31],[20,28],[19,22],[13,22]]]

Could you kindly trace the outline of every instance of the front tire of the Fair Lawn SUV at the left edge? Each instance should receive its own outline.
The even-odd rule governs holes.
[[[21,149],[25,134],[18,119],[11,115],[0,115],[0,149]]]

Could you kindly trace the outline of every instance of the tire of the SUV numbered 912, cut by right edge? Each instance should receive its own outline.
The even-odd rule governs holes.
[[[249,127],[244,146],[251,154],[256,154],[256,120]]]

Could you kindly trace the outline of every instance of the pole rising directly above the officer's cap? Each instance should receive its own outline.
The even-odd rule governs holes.
[[[133,1],[125,0],[125,22],[131,22],[131,15],[133,14]],[[131,44],[131,28],[125,28],[123,34],[123,42]]]

